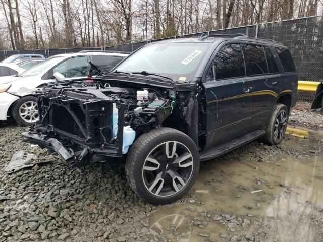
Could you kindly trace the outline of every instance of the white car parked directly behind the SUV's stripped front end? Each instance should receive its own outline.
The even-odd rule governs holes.
[[[96,76],[97,70],[93,70],[89,62],[102,73],[109,72],[127,56],[118,52],[58,54],[21,74],[0,77],[0,121],[12,116],[20,125],[34,124],[39,119],[37,99],[33,96],[36,88],[58,77],[73,80]]]

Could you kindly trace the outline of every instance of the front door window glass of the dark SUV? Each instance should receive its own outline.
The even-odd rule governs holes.
[[[214,70],[217,80],[244,77],[245,67],[240,44],[224,45],[214,58]]]

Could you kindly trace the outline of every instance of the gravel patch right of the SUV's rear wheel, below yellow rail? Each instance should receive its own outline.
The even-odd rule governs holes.
[[[323,130],[323,109],[310,109],[311,103],[297,102],[289,116],[289,126]]]

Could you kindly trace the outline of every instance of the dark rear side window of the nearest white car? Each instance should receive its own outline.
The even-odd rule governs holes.
[[[110,72],[122,59],[121,56],[92,55],[92,63],[98,67],[101,73]],[[97,70],[92,68],[90,75],[95,76],[97,74]]]

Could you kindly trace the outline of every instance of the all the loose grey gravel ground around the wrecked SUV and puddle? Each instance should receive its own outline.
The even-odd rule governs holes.
[[[322,115],[301,111],[302,105],[306,106],[299,103],[293,111],[291,124],[302,124],[297,120],[306,114],[306,124],[315,119],[307,127],[322,129]],[[149,241],[148,217],[171,205],[153,206],[139,199],[128,186],[123,167],[95,164],[71,171],[55,153],[23,143],[23,130],[15,124],[0,125],[0,242]],[[4,168],[19,150],[49,163],[7,173]],[[277,153],[298,155],[283,146],[254,142],[227,156],[266,162]],[[188,194],[175,204],[190,198]]]

